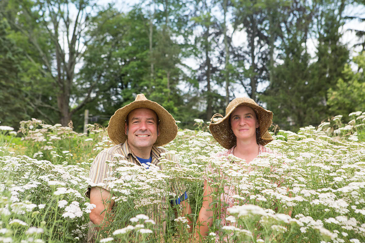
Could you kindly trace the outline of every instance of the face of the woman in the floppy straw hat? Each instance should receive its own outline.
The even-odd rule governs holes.
[[[259,127],[256,113],[249,106],[238,106],[231,114],[231,129],[238,140],[256,139]]]

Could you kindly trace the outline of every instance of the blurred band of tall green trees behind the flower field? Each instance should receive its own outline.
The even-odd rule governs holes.
[[[365,111],[362,1],[2,0],[0,9],[2,125],[35,117],[81,131],[88,109],[106,126],[138,93],[187,128],[239,96],[293,131]]]

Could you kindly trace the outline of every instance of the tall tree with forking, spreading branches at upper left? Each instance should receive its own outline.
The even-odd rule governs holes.
[[[76,64],[82,60],[89,38],[84,32],[90,24],[95,4],[92,0],[8,0],[1,4],[3,17],[11,28],[27,38],[31,48],[40,56],[39,72],[52,84],[51,102],[43,101],[35,106],[47,106],[59,115],[59,122],[66,126],[74,112],[89,101],[92,89],[84,100],[70,108],[73,85],[77,73]],[[9,13],[11,13],[9,15]],[[39,33],[39,30],[44,31]],[[47,39],[42,38],[47,35]],[[37,64],[26,52],[28,59]],[[56,103],[54,105],[54,103]]]

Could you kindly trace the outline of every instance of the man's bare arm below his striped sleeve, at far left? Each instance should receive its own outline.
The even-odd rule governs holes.
[[[105,219],[106,213],[109,216],[111,215],[111,209],[114,205],[114,200],[111,200],[110,192],[101,187],[92,187],[90,191],[90,203],[96,205],[89,215],[91,222],[104,228],[112,221],[112,217]]]

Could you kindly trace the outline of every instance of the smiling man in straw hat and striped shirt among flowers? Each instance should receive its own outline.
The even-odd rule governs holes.
[[[94,159],[89,178],[91,180],[90,187],[86,195],[90,198],[90,203],[96,207],[90,213],[90,229],[88,234],[88,243],[95,242],[99,227],[105,227],[112,221],[112,208],[114,200],[111,199],[110,187],[107,177],[112,171],[106,161],[116,161],[114,154],[121,154],[128,162],[137,165],[148,163],[157,165],[163,169],[163,165],[159,164],[160,154],[166,150],[158,148],[172,141],[177,134],[177,126],[172,115],[156,102],[146,99],[145,95],[138,94],[135,101],[115,111],[110,118],[108,125],[108,135],[116,144],[115,146],[101,151]],[[180,166],[176,158],[166,154],[164,158],[176,162],[176,166]],[[120,159],[120,158],[119,158]],[[148,166],[145,166],[148,167]],[[106,180],[105,180],[106,179]],[[187,202],[187,194],[183,184],[172,185],[172,192],[178,196],[172,203],[181,204],[181,216],[191,213],[191,207]],[[161,199],[165,202],[165,198]],[[109,215],[109,218],[105,218]],[[158,215],[149,215],[156,223],[166,218],[165,212],[158,212]],[[192,231],[192,222],[189,232]],[[96,226],[93,226],[96,225]],[[166,224],[163,223],[163,230]]]

